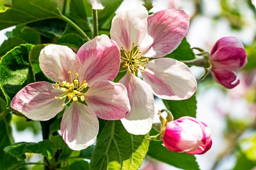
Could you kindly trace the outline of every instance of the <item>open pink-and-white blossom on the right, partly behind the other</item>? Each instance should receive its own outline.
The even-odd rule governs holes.
[[[122,68],[127,71],[119,82],[127,88],[131,105],[131,112],[121,119],[129,133],[146,134],[151,129],[153,94],[161,99],[182,100],[195,93],[197,82],[189,68],[175,59],[160,58],[180,45],[188,27],[189,16],[179,9],[148,16],[145,7],[139,6],[119,11],[113,18],[111,39],[122,51]],[[136,76],[139,71],[144,81]]]

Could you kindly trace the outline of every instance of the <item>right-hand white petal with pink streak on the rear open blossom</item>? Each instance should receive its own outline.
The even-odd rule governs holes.
[[[197,82],[189,67],[183,62],[171,58],[151,60],[140,67],[145,73],[143,80],[147,82],[153,93],[161,99],[182,100],[191,97]]]

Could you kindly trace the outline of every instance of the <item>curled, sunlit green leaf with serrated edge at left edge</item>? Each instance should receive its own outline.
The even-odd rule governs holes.
[[[0,88],[10,108],[12,98],[27,85],[29,76],[29,51],[33,45],[26,44],[15,47],[0,60]]]

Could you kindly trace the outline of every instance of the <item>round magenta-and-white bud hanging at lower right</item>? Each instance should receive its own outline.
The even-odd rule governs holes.
[[[172,152],[204,154],[212,147],[211,130],[198,119],[184,116],[167,124],[163,144]]]

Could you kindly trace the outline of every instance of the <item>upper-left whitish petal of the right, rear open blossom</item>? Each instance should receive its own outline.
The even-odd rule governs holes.
[[[142,5],[128,11],[119,11],[112,20],[111,39],[117,42],[119,48],[131,51],[132,43],[134,42],[135,47],[145,37],[147,17],[148,11]]]

